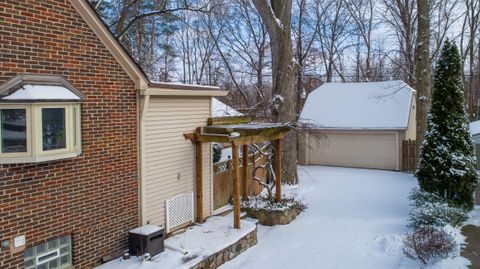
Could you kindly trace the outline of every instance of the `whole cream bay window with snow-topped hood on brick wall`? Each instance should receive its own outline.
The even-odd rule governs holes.
[[[78,156],[82,99],[59,77],[27,76],[0,86],[0,164]]]

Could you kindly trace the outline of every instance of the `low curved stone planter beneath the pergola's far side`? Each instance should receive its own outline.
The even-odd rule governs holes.
[[[300,214],[300,208],[293,207],[283,211],[269,211],[267,209],[250,209],[245,208],[247,215],[258,219],[262,225],[273,226],[278,224],[289,224]]]

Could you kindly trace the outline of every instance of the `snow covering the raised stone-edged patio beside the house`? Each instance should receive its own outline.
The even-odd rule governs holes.
[[[152,257],[150,261],[141,257],[122,258],[103,264],[97,269],[186,269],[204,258],[235,243],[252,232],[256,223],[242,220],[241,229],[233,229],[233,215],[211,217],[205,223],[195,225],[184,233],[165,240],[165,251]],[[184,255],[182,251],[188,251]]]

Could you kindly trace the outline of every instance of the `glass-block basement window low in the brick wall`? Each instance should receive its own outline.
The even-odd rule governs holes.
[[[70,235],[29,247],[24,252],[25,269],[63,269],[72,266]]]

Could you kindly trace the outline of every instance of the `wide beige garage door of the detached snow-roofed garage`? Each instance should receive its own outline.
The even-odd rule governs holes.
[[[309,135],[310,164],[398,170],[396,133]]]

